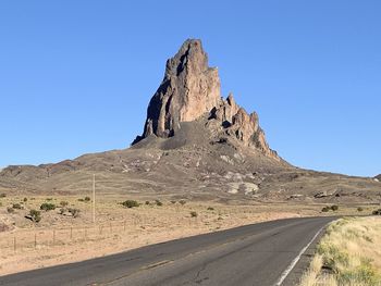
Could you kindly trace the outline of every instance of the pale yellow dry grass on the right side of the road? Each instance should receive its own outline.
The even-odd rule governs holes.
[[[381,219],[333,222],[318,245],[300,286],[381,285]]]

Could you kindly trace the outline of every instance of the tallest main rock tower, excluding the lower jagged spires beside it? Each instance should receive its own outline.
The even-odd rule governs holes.
[[[217,69],[208,66],[200,40],[186,40],[167,61],[164,78],[148,105],[144,134],[170,137],[180,122],[197,120],[220,101]]]

